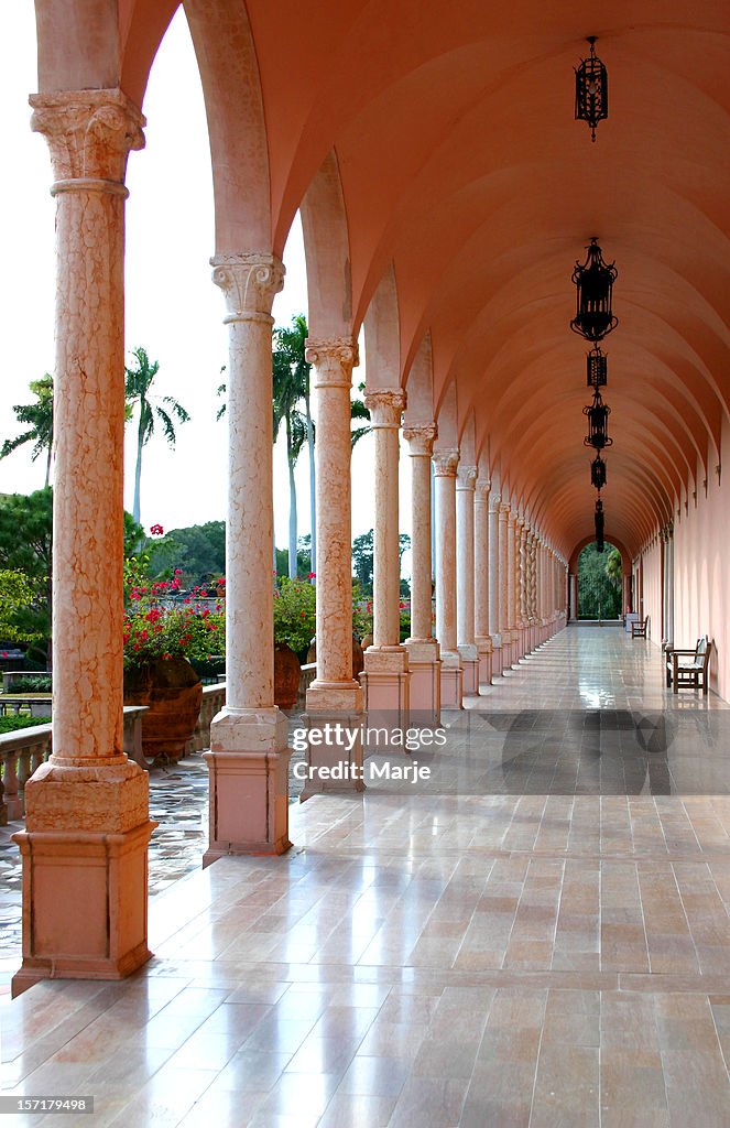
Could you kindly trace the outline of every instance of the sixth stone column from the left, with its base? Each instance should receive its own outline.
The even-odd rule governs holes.
[[[458,450],[433,455],[436,492],[436,633],[441,645],[441,707],[461,708],[456,628],[456,469]]]

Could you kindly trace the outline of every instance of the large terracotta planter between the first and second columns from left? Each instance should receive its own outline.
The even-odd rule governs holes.
[[[186,658],[158,659],[124,673],[124,704],[148,706],[142,717],[142,752],[148,760],[179,760],[202,699],[202,682]]]

